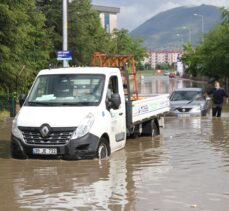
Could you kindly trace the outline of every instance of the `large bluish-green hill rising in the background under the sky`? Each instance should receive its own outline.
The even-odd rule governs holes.
[[[194,14],[203,15],[205,33],[221,18],[220,9],[215,6],[178,7],[152,17],[130,35],[143,37],[148,49],[179,48],[190,38],[196,45],[201,40],[202,18]]]

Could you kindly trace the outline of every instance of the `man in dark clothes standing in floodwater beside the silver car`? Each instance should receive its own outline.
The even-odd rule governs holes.
[[[212,95],[212,116],[220,117],[223,107],[223,99],[224,97],[228,98],[228,94],[220,87],[220,83],[218,81],[215,82],[215,88],[211,89],[207,94]]]

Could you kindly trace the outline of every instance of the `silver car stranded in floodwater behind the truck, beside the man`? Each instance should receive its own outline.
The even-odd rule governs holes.
[[[210,108],[210,98],[201,88],[177,89],[170,95],[170,115],[206,116]]]

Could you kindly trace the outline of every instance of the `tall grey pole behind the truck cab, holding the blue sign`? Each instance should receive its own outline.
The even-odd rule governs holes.
[[[68,0],[63,0],[63,51],[68,50]],[[63,67],[68,67],[68,60],[63,60]]]

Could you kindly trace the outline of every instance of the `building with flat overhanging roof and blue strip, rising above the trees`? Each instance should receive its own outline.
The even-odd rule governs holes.
[[[93,8],[99,12],[103,28],[112,33],[117,28],[117,14],[120,13],[120,8],[100,5],[93,5]]]

